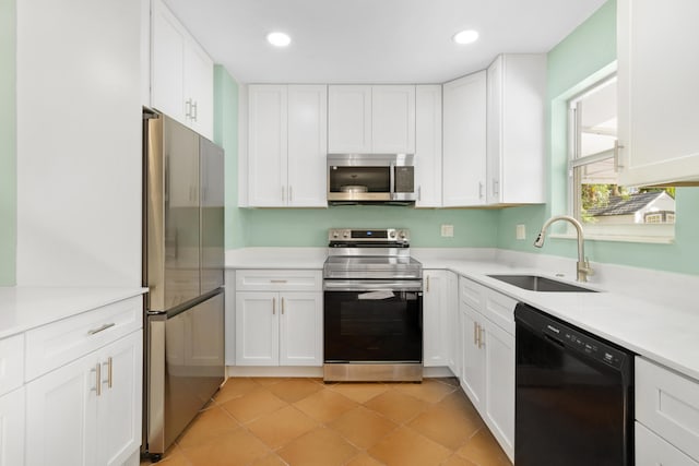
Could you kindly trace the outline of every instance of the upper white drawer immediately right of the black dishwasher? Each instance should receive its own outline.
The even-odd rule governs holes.
[[[637,357],[636,419],[699,459],[699,381]]]

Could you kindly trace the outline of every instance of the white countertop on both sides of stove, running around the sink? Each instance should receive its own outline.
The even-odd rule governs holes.
[[[412,255],[426,270],[450,270],[699,380],[699,276],[593,263],[596,273],[584,286],[600,292],[542,292],[488,275],[574,283],[574,260],[494,249],[420,248]],[[325,248],[248,248],[228,251],[226,266],[320,270],[324,259]]]

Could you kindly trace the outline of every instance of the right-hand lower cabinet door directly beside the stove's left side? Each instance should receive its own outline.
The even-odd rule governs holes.
[[[285,292],[280,301],[280,365],[322,366],[322,294]]]

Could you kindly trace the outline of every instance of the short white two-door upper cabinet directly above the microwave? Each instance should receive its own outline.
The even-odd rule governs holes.
[[[415,153],[415,86],[329,86],[329,153]]]

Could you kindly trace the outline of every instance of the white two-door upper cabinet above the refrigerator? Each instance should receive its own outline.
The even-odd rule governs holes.
[[[213,139],[213,61],[161,0],[151,8],[151,105]]]

